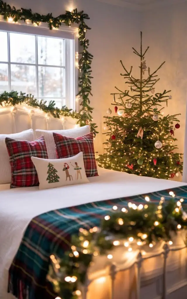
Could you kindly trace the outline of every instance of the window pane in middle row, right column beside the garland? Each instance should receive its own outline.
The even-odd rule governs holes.
[[[38,67],[39,97],[64,97],[64,68]]]

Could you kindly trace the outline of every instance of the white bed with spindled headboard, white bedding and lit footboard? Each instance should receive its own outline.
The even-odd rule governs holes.
[[[28,111],[19,107],[20,118],[16,123],[13,115],[12,128],[19,131],[19,125],[35,128],[37,118],[46,128],[45,115],[36,115],[36,122],[29,117]],[[28,108],[27,108],[28,109]],[[3,110],[4,111],[4,110]],[[26,111],[26,112],[25,112]],[[11,117],[11,110],[4,112],[4,117]],[[0,113],[0,122],[2,115]],[[62,121],[53,120],[51,129],[58,129]],[[64,124],[64,120],[63,120]],[[51,123],[50,123],[51,126]],[[66,128],[75,123],[66,120]],[[1,126],[0,126],[1,128]],[[49,127],[48,127],[49,129]],[[0,132],[2,133],[2,132]],[[4,133],[11,133],[4,132]],[[74,207],[93,202],[124,199],[124,206],[132,201],[145,202],[145,194],[160,199],[164,194],[171,197],[169,191],[174,190],[177,199],[186,199],[186,183],[145,178],[127,173],[98,168],[99,176],[89,178],[89,184],[39,190],[38,187],[9,189],[8,184],[1,186],[0,191],[0,298],[13,299],[7,293],[8,271],[18,251],[24,232],[31,220],[51,210]],[[7,190],[4,190],[7,189]],[[165,191],[162,191],[165,190]],[[182,195],[181,195],[182,194]],[[68,200],[66,200],[68,199]],[[125,203],[126,202],[126,203]],[[88,273],[88,281],[82,292],[82,299],[159,299],[186,298],[186,245],[183,232],[175,238],[172,247],[159,244],[154,250],[147,250],[145,256],[139,251],[126,252],[125,248],[114,251],[112,262],[102,257],[94,263]],[[124,256],[125,254],[125,256]],[[119,257],[123,257],[120,261]],[[167,266],[166,261],[167,259]],[[124,283],[125,282],[125,283]],[[124,295],[125,294],[125,295]],[[21,297],[20,297],[21,298]],[[25,296],[25,298],[29,298]],[[23,298],[24,299],[24,298]],[[35,298],[37,299],[37,298]]]

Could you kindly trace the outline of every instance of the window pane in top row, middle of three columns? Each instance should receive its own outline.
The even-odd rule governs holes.
[[[10,61],[35,63],[35,36],[10,33]]]

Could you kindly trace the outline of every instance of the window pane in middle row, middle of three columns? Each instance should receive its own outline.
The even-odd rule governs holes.
[[[11,89],[36,96],[36,67],[11,65]]]

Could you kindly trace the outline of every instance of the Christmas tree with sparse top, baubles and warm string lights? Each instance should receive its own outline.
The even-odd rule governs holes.
[[[151,72],[146,66],[145,51],[142,50],[142,32],[140,52],[133,48],[133,53],[140,59],[140,77],[133,76],[133,67],[128,71],[121,65],[125,83],[129,90],[118,89],[112,93],[115,105],[115,116],[109,116],[111,109],[105,116],[107,140],[104,143],[105,153],[99,155],[98,165],[107,169],[118,170],[140,176],[150,176],[161,179],[180,176],[182,172],[181,155],[174,152],[175,129],[179,129],[177,116],[163,116],[163,103],[168,105],[172,100],[171,90],[156,92],[155,85],[159,81],[157,71]]]

